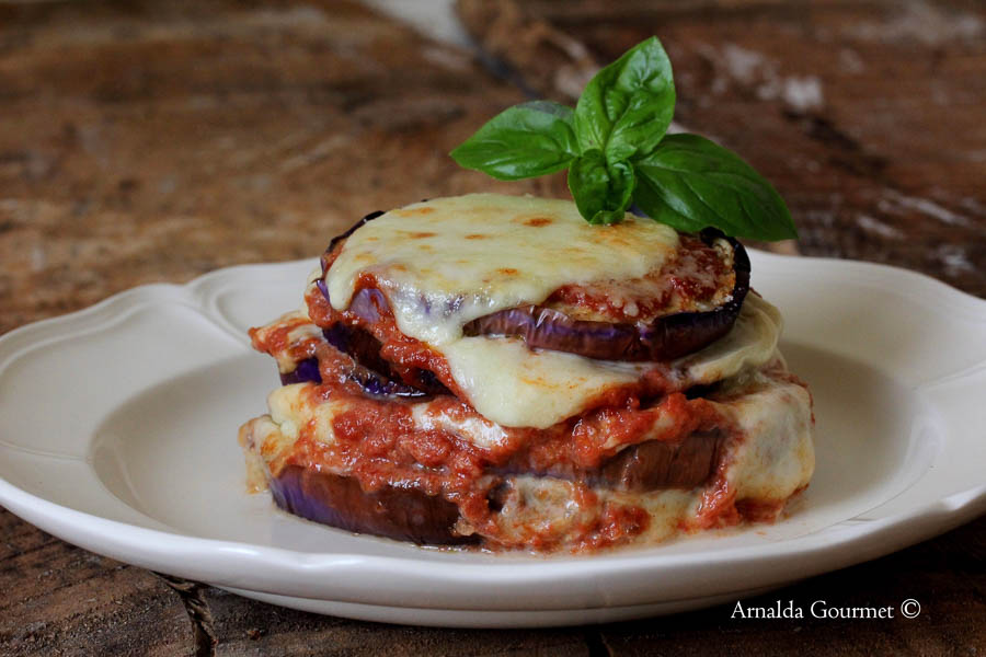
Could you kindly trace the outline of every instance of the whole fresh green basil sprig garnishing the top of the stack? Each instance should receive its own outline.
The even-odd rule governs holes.
[[[674,112],[670,60],[651,37],[596,73],[574,111],[547,101],[515,105],[451,157],[504,181],[567,169],[589,223],[617,223],[635,204],[685,232],[796,238],[783,199],[736,153],[698,135],[667,135]]]

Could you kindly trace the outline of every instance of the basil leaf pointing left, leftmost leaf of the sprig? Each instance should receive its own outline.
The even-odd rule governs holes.
[[[449,154],[460,166],[502,181],[561,171],[578,155],[572,110],[548,101],[514,105]]]

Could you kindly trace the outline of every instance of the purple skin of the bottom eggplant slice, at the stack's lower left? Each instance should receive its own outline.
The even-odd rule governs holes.
[[[353,477],[286,465],[271,477],[271,493],[282,509],[347,531],[429,545],[474,543],[452,527],[456,505],[416,488],[385,486],[364,491]]]

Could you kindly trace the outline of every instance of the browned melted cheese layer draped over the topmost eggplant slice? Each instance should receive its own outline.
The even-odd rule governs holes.
[[[638,278],[677,250],[674,229],[627,215],[591,226],[566,200],[470,194],[392,210],[346,240],[325,275],[336,310],[372,274],[398,327],[433,346],[483,315],[540,303],[559,287]]]

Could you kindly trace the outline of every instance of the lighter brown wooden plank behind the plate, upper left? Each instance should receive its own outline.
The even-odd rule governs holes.
[[[4,4],[0,44],[0,332],[506,188],[446,153],[519,92],[353,2]]]

